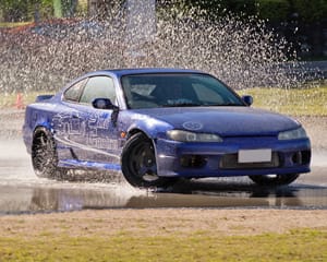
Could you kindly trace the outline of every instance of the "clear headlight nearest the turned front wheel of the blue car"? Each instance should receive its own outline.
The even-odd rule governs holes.
[[[222,142],[222,139],[217,134],[194,133],[184,130],[169,130],[167,136],[180,142]]]

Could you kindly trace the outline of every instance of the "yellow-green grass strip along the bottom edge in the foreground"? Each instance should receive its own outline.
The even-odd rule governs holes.
[[[327,231],[219,236],[66,235],[0,238],[0,261],[327,261]]]

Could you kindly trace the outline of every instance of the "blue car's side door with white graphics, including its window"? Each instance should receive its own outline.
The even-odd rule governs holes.
[[[117,105],[113,80],[106,75],[89,78],[80,97],[80,118],[82,118],[77,142],[84,144],[84,160],[119,163],[118,130],[111,120],[112,110],[92,106],[95,98],[109,98]]]

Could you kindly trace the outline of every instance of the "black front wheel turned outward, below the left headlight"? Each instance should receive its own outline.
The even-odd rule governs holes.
[[[141,132],[132,135],[123,147],[121,169],[128,182],[138,188],[165,188],[174,182],[173,178],[157,175],[154,144]]]

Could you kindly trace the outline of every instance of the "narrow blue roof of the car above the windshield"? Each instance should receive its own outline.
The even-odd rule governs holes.
[[[129,74],[146,74],[146,73],[204,73],[198,70],[191,69],[172,69],[172,68],[134,68],[134,69],[108,69],[101,71],[92,72],[90,75],[97,75],[101,73],[114,74],[117,78]]]

